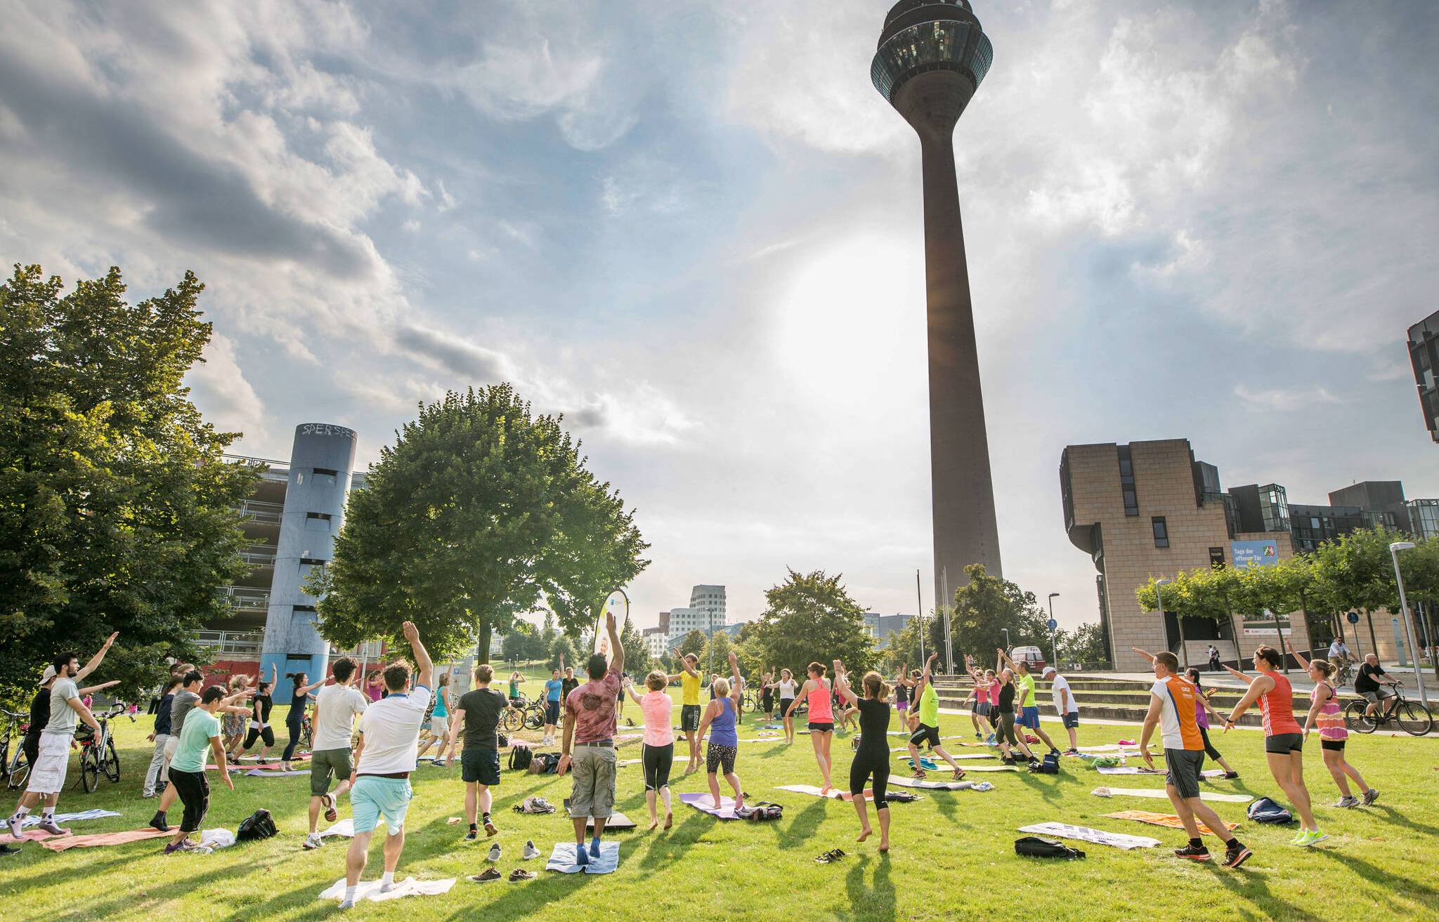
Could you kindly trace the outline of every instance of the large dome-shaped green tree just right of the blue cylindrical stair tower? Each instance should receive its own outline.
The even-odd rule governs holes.
[[[442,654],[548,606],[566,631],[649,561],[633,512],[586,469],[561,419],[508,384],[422,406],[350,496],[319,580],[321,631],[341,647],[414,621]]]

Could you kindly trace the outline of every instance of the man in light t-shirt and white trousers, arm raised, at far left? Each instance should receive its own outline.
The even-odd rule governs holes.
[[[83,696],[76,688],[76,682],[95,672],[105,660],[105,654],[118,636],[118,631],[111,634],[99,649],[99,653],[92,656],[91,662],[85,663],[85,666],[81,666],[79,653],[75,652],[60,653],[50,663],[55,667],[55,682],[50,685],[50,716],[45,724],[45,729],[40,731],[36,758],[30,762],[30,780],[9,823],[10,836],[16,841],[22,839],[24,818],[30,816],[30,810],[42,800],[45,801],[45,807],[40,810],[40,829],[55,836],[63,836],[69,831],[55,823],[55,804],[59,803],[60,790],[65,787],[65,772],[71,764],[71,744],[75,742],[75,728],[83,722],[85,726],[89,726],[96,734],[99,732],[95,715],[81,700]]]

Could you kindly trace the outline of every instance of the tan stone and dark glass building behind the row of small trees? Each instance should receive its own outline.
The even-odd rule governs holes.
[[[1091,555],[1098,577],[1099,621],[1117,669],[1145,665],[1130,647],[1179,649],[1179,623],[1140,610],[1134,591],[1150,577],[1215,565],[1268,565],[1314,551],[1324,541],[1357,528],[1439,534],[1439,499],[1404,499],[1397,480],[1364,480],[1330,493],[1330,505],[1291,503],[1278,483],[1222,490],[1219,470],[1196,462],[1184,439],[1130,444],[1078,444],[1059,462],[1065,529]],[[1334,613],[1309,613],[1315,624],[1354,627]],[[1275,643],[1304,649],[1308,626],[1301,613],[1281,614],[1279,627],[1259,611],[1236,613],[1240,644]],[[1397,621],[1376,613],[1345,642],[1384,659],[1403,647]],[[1235,659],[1235,624],[1184,619],[1190,660],[1204,659],[1210,643]],[[1328,634],[1325,634],[1327,637]],[[1327,640],[1325,640],[1327,643]],[[1245,653],[1246,650],[1239,650]]]

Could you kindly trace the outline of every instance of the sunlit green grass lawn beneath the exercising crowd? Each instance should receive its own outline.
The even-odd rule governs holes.
[[[505,673],[508,675],[508,673]],[[678,695],[676,695],[678,698]],[[637,708],[627,708],[637,716]],[[678,722],[678,711],[676,711]],[[276,724],[283,726],[282,715]],[[947,734],[968,731],[968,718],[945,716]],[[62,794],[60,811],[112,808],[124,818],[75,824],[76,833],[98,833],[144,826],[154,801],[140,798],[140,774],[148,761],[144,739],[148,721],[121,719],[118,742],[122,759],[119,784],[101,781],[95,794],[71,790]],[[1056,738],[1062,731],[1046,721]],[[1081,745],[1134,738],[1137,726],[1089,725]],[[748,718],[741,738],[754,735]],[[891,736],[891,739],[901,739]],[[1276,794],[1265,768],[1258,732],[1236,731],[1216,738],[1219,748],[1240,771],[1238,781],[1206,784],[1207,790],[1253,795]],[[899,745],[898,742],[895,745]],[[875,839],[856,846],[853,807],[839,800],[819,800],[773,790],[778,784],[819,784],[807,736],[796,745],[748,744],[741,747],[737,771],[754,798],[784,804],[784,818],[753,824],[718,821],[676,801],[675,829],[646,833],[643,780],[639,767],[619,770],[619,807],[640,823],[640,830],[614,836],[622,843],[622,863],[610,876],[545,873],[543,860],[525,866],[540,873],[521,885],[476,885],[465,875],[485,867],[488,843],[463,844],[463,826],[449,817],[462,814],[463,785],[459,768],[422,767],[414,781],[404,857],[399,876],[460,877],[445,896],[410,898],[387,903],[361,903],[350,918],[459,919],[481,913],[492,919],[1360,919],[1376,913],[1400,918],[1439,918],[1439,741],[1410,738],[1358,738],[1350,755],[1380,801],[1363,810],[1335,810],[1337,793],[1324,771],[1318,741],[1307,752],[1307,780],[1318,804],[1320,823],[1330,840],[1315,849],[1286,844],[1294,827],[1265,827],[1243,821],[1240,804],[1215,804],[1219,814],[1242,821],[1240,839],[1255,850],[1249,863],[1229,872],[1212,864],[1191,864],[1170,856],[1183,833],[1108,820],[1114,810],[1168,811],[1167,801],[1092,797],[1101,784],[1161,787],[1154,777],[1102,777],[1075,759],[1063,761],[1063,774],[1027,775],[993,772],[994,791],[925,791],[914,804],[892,808],[892,844],[888,857],[875,853]],[[955,749],[958,751],[958,749]],[[964,749],[980,752],[980,749]],[[637,758],[639,747],[626,745],[620,758]],[[836,772],[848,781],[849,739],[835,739]],[[676,757],[679,771],[682,759]],[[895,762],[899,764],[898,759]],[[977,762],[984,764],[984,762]],[[72,762],[72,778],[75,777]],[[943,774],[943,772],[941,772]],[[979,780],[981,775],[971,774]],[[275,814],[281,834],[262,843],[239,844],[212,856],[161,854],[164,840],[108,849],[52,853],[26,844],[20,854],[0,859],[0,899],[6,922],[17,919],[308,919],[334,915],[334,903],[317,900],[325,886],[344,876],[345,840],[328,840],[318,852],[304,852],[308,778],[237,778],[232,794],[214,785],[206,827],[239,821],[258,807]],[[570,839],[563,813],[521,817],[511,807],[522,797],[541,794],[560,804],[568,778],[511,775],[507,772],[495,800],[505,850],[499,867],[521,866],[525,839],[534,839],[548,856],[551,846]],[[678,778],[675,793],[705,790],[702,774]],[[1276,797],[1276,800],[1279,800]],[[348,800],[340,804],[348,816]],[[177,821],[178,804],[171,811]],[[1121,852],[1105,846],[1072,843],[1088,852],[1084,862],[1020,859],[1013,853],[1016,827],[1061,820],[1160,839],[1158,849]],[[324,826],[324,823],[321,823]],[[849,853],[837,864],[822,866],[814,856],[842,847]],[[1220,852],[1217,840],[1212,850]],[[380,849],[371,852],[368,877],[380,873]]]

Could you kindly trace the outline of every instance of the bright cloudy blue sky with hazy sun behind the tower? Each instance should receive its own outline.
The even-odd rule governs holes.
[[[1439,496],[1439,6],[974,0],[955,131],[1004,575],[1098,617],[1066,444]],[[876,0],[0,0],[0,256],[193,269],[236,450],[511,381],[636,511],[639,624],[931,590],[918,142]]]

